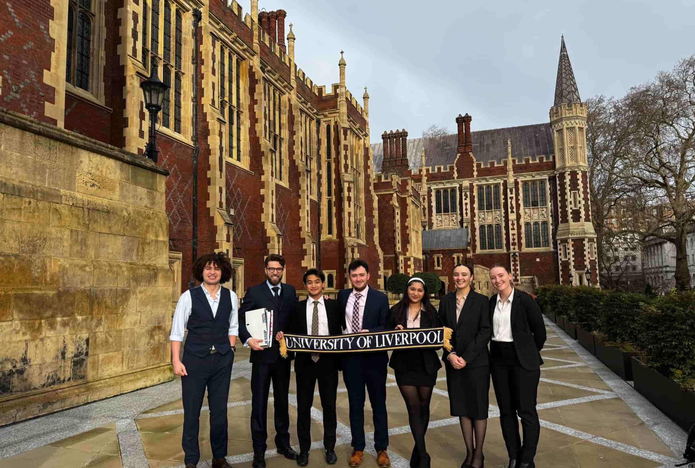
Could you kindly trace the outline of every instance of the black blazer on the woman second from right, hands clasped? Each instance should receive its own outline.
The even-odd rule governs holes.
[[[452,351],[466,361],[466,367],[490,364],[487,344],[490,342],[492,327],[487,296],[473,290],[468,292],[459,321],[456,321],[456,292],[450,292],[439,301],[439,319],[443,326],[452,329]],[[445,349],[442,360],[447,369],[454,369],[447,359],[449,353]]]

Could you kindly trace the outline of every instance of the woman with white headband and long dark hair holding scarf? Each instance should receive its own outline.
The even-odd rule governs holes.
[[[430,303],[425,281],[410,278],[400,302],[389,312],[386,328],[434,328],[441,326],[436,310]],[[430,399],[441,368],[436,349],[397,349],[391,354],[389,366],[395,371],[398,390],[408,409],[408,422],[415,440],[410,458],[412,468],[430,468],[430,456],[425,449],[425,432],[430,424]]]

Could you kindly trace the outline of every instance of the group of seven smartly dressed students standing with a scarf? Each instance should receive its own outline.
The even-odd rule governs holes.
[[[186,468],[195,468],[199,416],[205,390],[210,408],[210,442],[213,468],[231,468],[227,456],[227,399],[237,337],[251,349],[252,411],[251,434],[254,449],[252,467],[265,467],[268,448],[268,396],[272,382],[277,453],[297,465],[309,463],[311,448],[311,408],[318,382],[323,417],[325,460],[334,464],[336,444],[336,396],[338,374],[350,404],[352,454],[348,466],[359,467],[366,446],[364,404],[368,394],[373,413],[374,449],[377,465],[389,467],[388,415],[386,412],[387,367],[393,368],[395,381],[405,401],[414,438],[411,468],[430,468],[431,457],[425,446],[430,422],[430,399],[441,361],[445,362],[450,412],[459,417],[466,445],[461,468],[484,467],[483,444],[487,429],[489,387],[492,380],[500,425],[509,456],[508,468],[533,468],[540,424],[536,411],[540,350],[546,341],[546,328],[535,301],[514,289],[512,276],[503,265],[490,269],[490,281],[497,294],[490,299],[472,290],[473,270],[457,265],[453,271],[456,286],[441,298],[439,310],[430,303],[423,279],[414,276],[406,285],[402,299],[389,308],[383,292],[370,288],[369,267],[353,260],[348,267],[352,288],[338,292],[336,299],[323,294],[325,276],[312,268],[304,273],[308,297],[297,301],[293,286],[281,282],[285,267],[282,256],[265,258],[265,281],[249,287],[237,307],[234,292],[221,286],[231,278],[231,264],[223,253],[199,258],[193,274],[201,282],[183,294],[172,322],[172,362],[174,374],[181,376],[183,394],[183,437]],[[245,313],[272,310],[272,328],[277,331],[272,346],[259,346],[245,324]],[[297,438],[300,452],[290,446],[289,386],[291,360],[282,358],[279,340],[284,333],[300,335],[341,335],[400,328],[452,329],[451,351],[440,360],[435,349],[396,349],[360,353],[297,353],[295,360],[297,398]],[[179,359],[183,331],[188,337]],[[523,443],[518,429],[521,419]]]

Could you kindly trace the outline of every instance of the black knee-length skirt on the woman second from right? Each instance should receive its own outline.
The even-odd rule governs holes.
[[[487,419],[490,405],[490,367],[446,367],[446,387],[452,416]]]

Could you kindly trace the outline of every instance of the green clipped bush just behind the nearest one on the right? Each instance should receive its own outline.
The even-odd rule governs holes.
[[[637,319],[641,313],[641,305],[650,303],[651,298],[644,294],[631,292],[610,292],[603,298],[601,317],[598,331],[607,342],[623,344],[635,342],[639,334]]]

